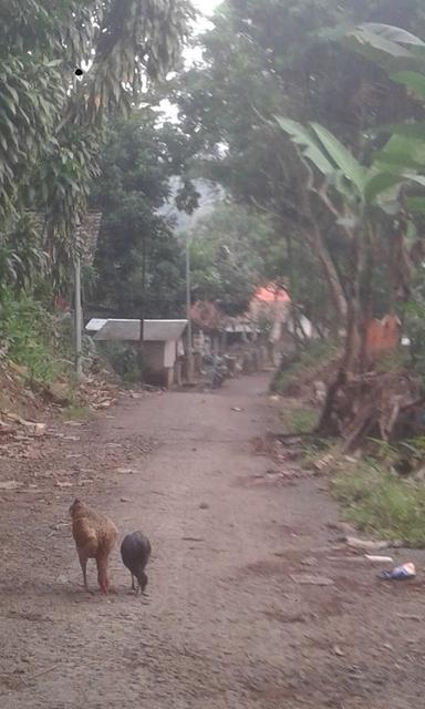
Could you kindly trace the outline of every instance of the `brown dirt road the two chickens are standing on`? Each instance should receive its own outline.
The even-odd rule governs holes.
[[[266,388],[261,377],[125,400],[34,444],[20,466],[1,461],[1,480],[24,482],[0,500],[2,709],[424,705],[425,589],[383,584],[334,548],[323,479],[267,482],[270,461],[250,445],[276,424]],[[148,534],[147,599],[129,594],[117,551],[110,599],[93,568],[84,593],[66,517],[75,494],[121,536]]]

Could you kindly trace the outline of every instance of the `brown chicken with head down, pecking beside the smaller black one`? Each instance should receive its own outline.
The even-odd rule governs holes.
[[[116,543],[118,531],[108,517],[96,514],[77,499],[72,503],[70,513],[72,517],[72,535],[75,540],[83,572],[84,588],[89,590],[87,559],[95,558],[97,582],[102,593],[107,595],[107,562]]]

